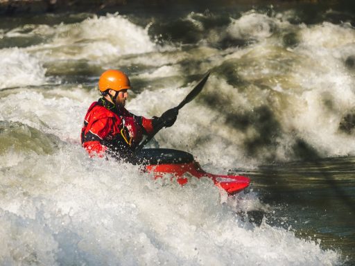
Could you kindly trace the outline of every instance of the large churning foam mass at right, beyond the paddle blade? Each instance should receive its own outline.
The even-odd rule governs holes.
[[[281,136],[275,139],[277,160],[293,159],[295,139],[309,143],[322,157],[353,155],[352,135],[341,132],[339,124],[355,105],[354,74],[345,66],[347,57],[355,53],[354,29],[327,22],[284,26],[295,32],[300,42],[295,48],[280,46],[277,36],[261,35],[259,42],[227,56],[238,59],[232,61],[237,74],[250,82],[242,85],[241,99],[233,101],[236,108],[239,112],[260,106],[272,110],[281,127]],[[226,95],[233,97],[235,89]],[[236,143],[253,134],[244,133]],[[258,155],[258,161],[263,160],[268,151],[260,149]]]

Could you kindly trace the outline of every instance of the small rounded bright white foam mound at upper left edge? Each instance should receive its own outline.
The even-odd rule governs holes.
[[[19,48],[0,50],[0,89],[28,85],[42,85],[46,82],[42,62]]]

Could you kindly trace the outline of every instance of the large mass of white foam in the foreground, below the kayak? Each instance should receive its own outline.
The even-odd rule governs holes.
[[[208,179],[191,179],[183,188],[169,179],[152,181],[136,166],[89,159],[78,146],[28,157],[2,175],[0,184],[6,187],[0,202],[2,262],[29,265],[33,258],[51,265],[339,262],[336,252],[323,251],[291,231],[243,222],[233,206],[220,204],[218,188]],[[243,202],[244,197],[253,200],[246,195],[238,200]],[[243,205],[239,208],[243,211]]]

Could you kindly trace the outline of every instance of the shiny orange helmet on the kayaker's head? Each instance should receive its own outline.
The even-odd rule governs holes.
[[[101,92],[107,89],[121,91],[121,89],[130,89],[130,80],[122,71],[109,69],[103,72],[98,80],[98,89]]]

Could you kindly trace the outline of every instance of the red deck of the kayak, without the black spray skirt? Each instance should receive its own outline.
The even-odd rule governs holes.
[[[208,177],[214,181],[214,184],[219,188],[227,191],[228,195],[233,195],[239,191],[247,188],[250,185],[250,179],[241,175],[214,175],[205,172],[196,161],[189,163],[162,163],[146,166],[148,172],[154,172],[155,179],[163,177],[164,174],[171,174],[177,177],[180,185],[187,184],[188,178],[186,174],[189,173],[198,179]]]

